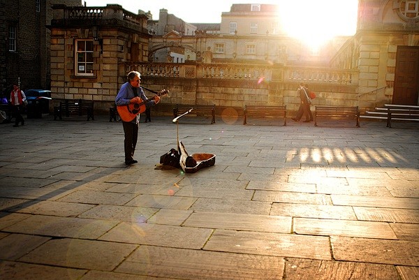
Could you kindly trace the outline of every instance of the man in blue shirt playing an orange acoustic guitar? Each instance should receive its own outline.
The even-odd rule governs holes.
[[[133,105],[144,105],[144,101],[147,101],[147,106],[153,106],[159,103],[160,96],[156,95],[153,98],[147,99],[144,91],[140,87],[140,73],[137,71],[131,71],[127,75],[127,82],[122,84],[121,89],[115,98],[115,104],[117,105],[118,112],[127,111],[127,117],[122,117],[122,126],[124,127],[124,151],[125,151],[125,164],[131,165],[137,163],[133,159],[135,146],[138,140],[138,124],[140,122],[140,112],[143,112],[140,108],[138,110],[131,110],[135,106]],[[138,106],[137,106],[138,107]],[[119,114],[121,115],[121,114]],[[131,119],[131,117],[132,119]]]

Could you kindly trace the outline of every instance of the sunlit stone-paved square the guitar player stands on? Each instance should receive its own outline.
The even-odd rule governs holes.
[[[249,123],[1,124],[0,279],[419,279],[418,124]]]

